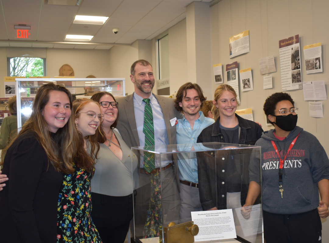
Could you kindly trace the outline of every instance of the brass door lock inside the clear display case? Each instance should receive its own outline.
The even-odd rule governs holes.
[[[164,227],[164,243],[194,243],[194,235],[199,233],[199,227],[188,221],[181,224],[171,222]]]

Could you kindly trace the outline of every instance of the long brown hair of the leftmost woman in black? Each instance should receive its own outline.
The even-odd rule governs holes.
[[[22,126],[22,130],[17,137],[22,136],[28,132],[33,132],[40,144],[47,154],[48,162],[57,170],[63,173],[73,173],[74,168],[72,162],[75,160],[77,151],[80,150],[79,134],[74,127],[74,119],[69,118],[63,128],[58,129],[54,139],[49,132],[48,123],[43,118],[42,111],[49,101],[51,91],[61,91],[67,94],[70,100],[71,114],[72,112],[72,95],[65,87],[55,85],[53,83],[42,85],[36,94],[33,102],[32,114],[30,118]],[[17,137],[15,139],[17,139]],[[8,148],[15,141],[2,150],[2,163],[4,155]],[[82,147],[83,148],[83,147]],[[86,152],[87,153],[87,152]]]

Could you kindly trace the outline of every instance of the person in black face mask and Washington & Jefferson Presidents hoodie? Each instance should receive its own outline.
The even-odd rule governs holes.
[[[263,132],[261,166],[250,158],[250,185],[242,213],[260,193],[267,243],[321,242],[320,217],[328,216],[329,160],[314,135],[296,126],[298,108],[287,93],[274,93],[264,111],[275,129]],[[321,201],[319,201],[319,193]]]

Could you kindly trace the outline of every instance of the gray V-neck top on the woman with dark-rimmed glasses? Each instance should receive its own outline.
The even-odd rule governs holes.
[[[121,146],[122,160],[119,160],[105,144],[100,144],[95,174],[91,180],[91,192],[110,196],[127,196],[133,193],[135,187],[133,173],[136,178],[138,159],[132,154],[120,134],[113,131]],[[111,146],[115,145],[111,143]]]

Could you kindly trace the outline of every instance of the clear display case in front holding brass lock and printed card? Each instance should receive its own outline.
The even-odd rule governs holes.
[[[232,210],[237,235],[225,242],[264,242],[261,195],[245,205],[249,181],[261,184],[261,147],[212,142],[133,147],[132,154],[138,158],[132,178],[132,242],[222,242],[218,232],[225,234],[223,220],[210,220],[209,226],[195,216],[202,213],[191,213],[224,212],[220,210]],[[194,240],[185,236],[188,227],[168,239],[172,225],[189,221],[200,224]]]

